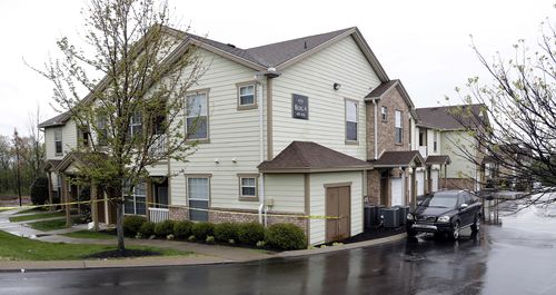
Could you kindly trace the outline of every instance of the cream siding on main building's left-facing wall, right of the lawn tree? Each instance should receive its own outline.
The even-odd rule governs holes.
[[[237,109],[236,83],[252,81],[255,71],[209,51],[199,49],[208,70],[190,88],[208,89],[208,144],[199,144],[188,163],[170,161],[172,173],[210,174],[210,206],[218,208],[257,209],[257,201],[241,201],[238,174],[258,174],[260,164],[259,109]],[[185,75],[187,77],[187,73]],[[262,87],[257,86],[260,108]],[[183,128],[185,131],[185,128]],[[218,163],[217,163],[218,161]],[[260,178],[259,178],[260,179]],[[186,176],[171,178],[171,204],[186,205]]]

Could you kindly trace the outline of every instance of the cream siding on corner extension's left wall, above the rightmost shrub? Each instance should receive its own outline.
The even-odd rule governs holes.
[[[305,213],[302,174],[265,175],[265,199],[274,200],[272,212]]]

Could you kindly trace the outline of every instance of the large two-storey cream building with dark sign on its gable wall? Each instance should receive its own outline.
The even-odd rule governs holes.
[[[187,163],[150,167],[126,214],[290,222],[315,245],[363,233],[365,200],[415,204],[426,161],[411,150],[415,107],[357,28],[250,49],[192,35],[183,42],[210,61],[183,98],[200,106],[186,114],[206,122],[190,138],[200,144]],[[87,141],[66,114],[40,127],[51,191],[68,196],[78,188],[63,178],[82,165],[70,151]],[[113,222],[107,203],[99,209],[101,222]],[[341,218],[307,218],[325,215]]]

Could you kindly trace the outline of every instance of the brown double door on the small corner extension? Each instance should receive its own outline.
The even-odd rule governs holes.
[[[326,189],[326,215],[339,218],[326,219],[326,242],[340,240],[350,233],[350,187],[328,187]]]

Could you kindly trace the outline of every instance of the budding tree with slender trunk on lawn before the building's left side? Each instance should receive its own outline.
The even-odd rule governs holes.
[[[89,51],[62,38],[63,58],[39,71],[54,85],[56,106],[70,111],[83,135],[75,150],[86,164],[80,178],[101,185],[116,204],[123,250],[123,194],[148,176],[148,166],[186,160],[193,151],[183,98],[205,68],[187,35],[169,29],[167,2],[91,0],[83,20]],[[101,80],[90,78],[98,73]],[[89,92],[85,98],[80,87]]]

